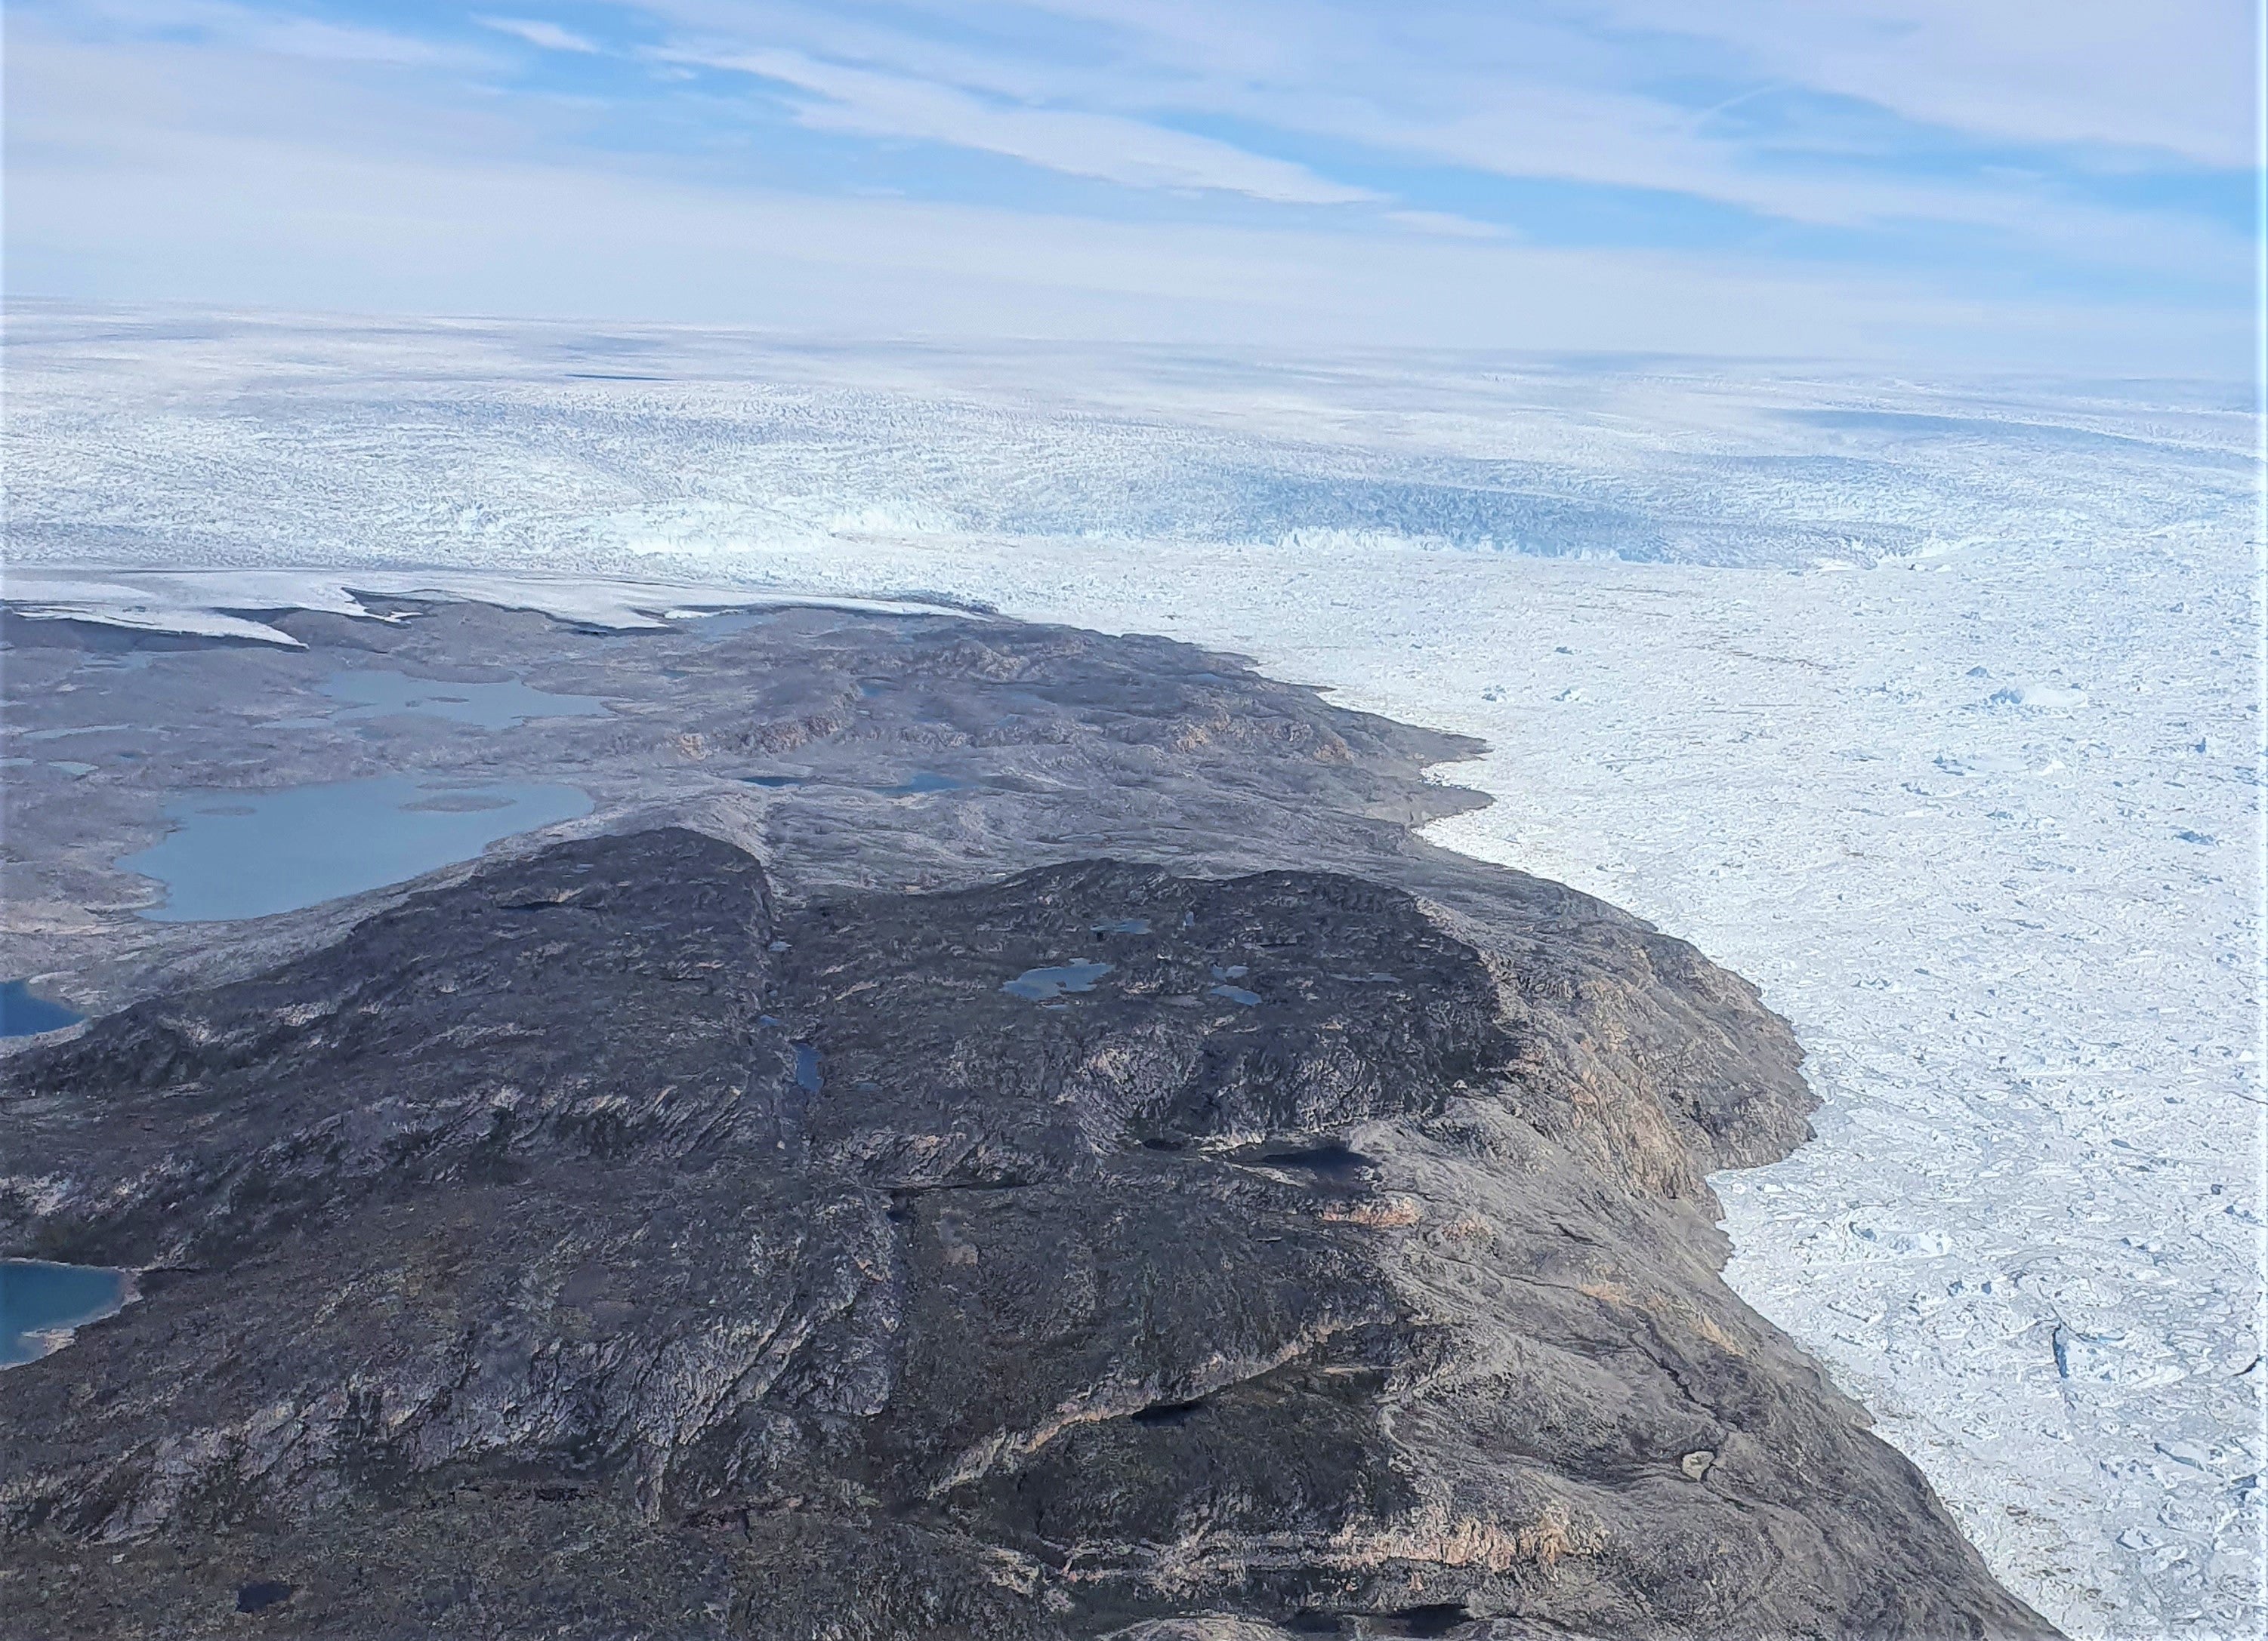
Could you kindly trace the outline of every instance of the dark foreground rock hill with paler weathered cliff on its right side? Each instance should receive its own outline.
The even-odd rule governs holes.
[[[2046,1634],[1717,1281],[1794,1061],[1529,879],[558,845],[5,1065],[0,1251],[152,1269],[0,1632]]]

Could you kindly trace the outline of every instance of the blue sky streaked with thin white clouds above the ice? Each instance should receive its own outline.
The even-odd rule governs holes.
[[[2245,0],[9,0],[7,295],[2243,379]]]

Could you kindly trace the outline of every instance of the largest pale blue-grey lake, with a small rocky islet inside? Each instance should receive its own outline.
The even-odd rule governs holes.
[[[297,911],[467,861],[497,839],[592,811],[576,787],[420,784],[408,775],[284,791],[202,791],[166,805],[175,830],[118,866],[166,886],[152,922]]]

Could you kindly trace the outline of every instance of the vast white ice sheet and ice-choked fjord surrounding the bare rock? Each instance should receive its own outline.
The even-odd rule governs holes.
[[[1812,1054],[1733,1285],[2068,1632],[2268,1621],[2241,394],[36,308],[7,363],[57,612],[980,598],[1486,737],[1442,843]]]

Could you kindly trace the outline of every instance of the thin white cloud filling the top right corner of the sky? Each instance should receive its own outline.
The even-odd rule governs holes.
[[[671,16],[719,2],[733,0],[646,0]],[[2250,0],[1021,5],[1107,36],[1120,52],[1118,70],[1148,59],[1195,79],[1266,86],[1343,84],[1343,73],[1356,68],[1381,104],[1461,70],[1483,70],[1499,84],[1631,91],[1667,45],[1685,66],[1744,68],[1973,136],[2157,147],[2223,168],[2254,159],[2259,36]],[[928,9],[959,11],[955,0]]]

